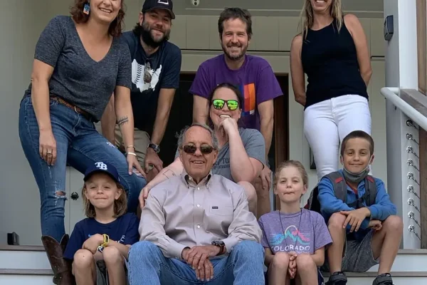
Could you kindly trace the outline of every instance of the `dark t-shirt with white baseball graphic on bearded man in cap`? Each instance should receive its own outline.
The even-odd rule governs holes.
[[[181,50],[169,41],[150,56],[132,31],[122,34],[132,59],[131,101],[135,128],[152,135],[161,88],[178,88],[181,71]]]

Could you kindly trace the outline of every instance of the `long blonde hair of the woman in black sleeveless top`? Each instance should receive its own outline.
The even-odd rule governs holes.
[[[330,15],[334,20],[337,21],[337,28],[339,33],[342,28],[342,23],[344,21],[342,15],[341,0],[332,0],[332,5],[330,7]],[[308,29],[313,26],[313,22],[314,15],[311,1],[305,0],[304,5],[302,5],[302,10],[300,14],[300,24],[298,25],[299,32],[302,34],[303,38],[307,38]]]

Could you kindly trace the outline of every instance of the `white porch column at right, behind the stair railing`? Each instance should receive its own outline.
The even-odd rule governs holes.
[[[394,35],[386,43],[386,86],[418,89],[416,0],[384,1],[384,19],[389,15],[394,16]],[[420,179],[418,171],[407,162],[412,159],[418,169],[419,163],[413,153],[406,151],[406,147],[413,147],[417,155],[419,151],[418,145],[406,138],[407,133],[412,133],[418,141],[418,131],[406,125],[408,119],[390,102],[386,103],[388,192],[399,216],[404,219],[403,248],[414,249],[420,248],[420,241],[413,232],[408,231],[408,227],[413,224],[418,235],[421,229],[413,219],[409,219],[408,212],[414,212],[418,221],[420,216],[416,208],[408,204],[408,199],[413,199],[418,209],[419,199],[408,192],[408,186],[412,185],[418,194],[419,186],[408,179],[408,172],[412,172],[418,182]]]

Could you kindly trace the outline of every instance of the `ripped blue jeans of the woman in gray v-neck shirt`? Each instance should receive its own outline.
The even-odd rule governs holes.
[[[95,130],[93,122],[75,110],[50,100],[53,136],[56,139],[55,165],[49,166],[38,152],[38,123],[31,97],[19,108],[19,138],[36,178],[41,200],[41,233],[58,242],[65,234],[65,170],[67,164],[84,173],[89,165],[103,161],[117,168],[127,192],[129,212],[135,212],[139,192],[147,184],[142,177],[128,174],[125,155]],[[82,181],[83,186],[83,181]],[[62,192],[62,193],[61,193]],[[62,194],[62,195],[61,195]]]

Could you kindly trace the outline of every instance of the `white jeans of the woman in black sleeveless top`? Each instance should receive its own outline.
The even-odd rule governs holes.
[[[371,135],[367,98],[342,95],[305,109],[304,133],[315,158],[318,180],[338,170],[340,142],[353,130]]]

